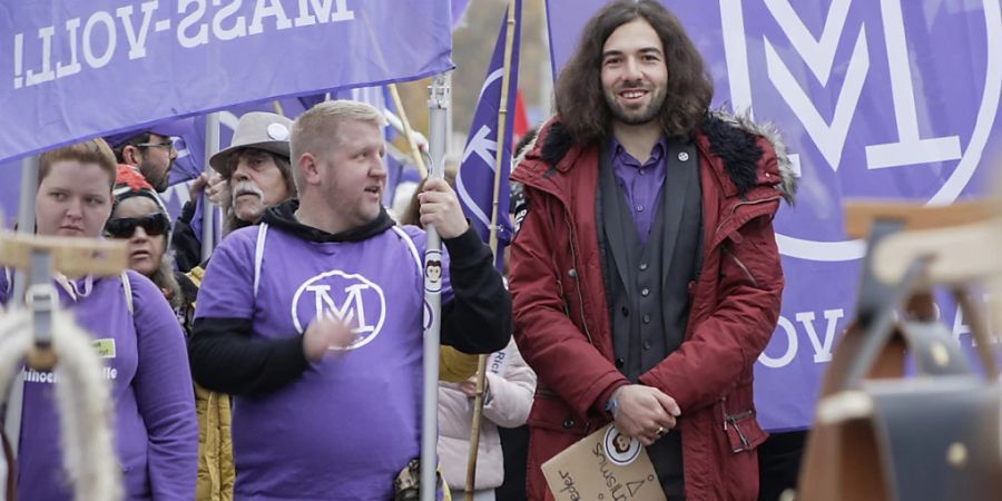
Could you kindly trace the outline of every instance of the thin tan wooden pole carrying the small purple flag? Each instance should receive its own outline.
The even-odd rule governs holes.
[[[501,191],[502,163],[504,161],[504,131],[508,125],[508,90],[511,86],[511,52],[514,45],[515,2],[508,1],[508,21],[505,21],[504,35],[504,71],[501,75],[501,101],[498,106],[498,148],[494,153],[494,193],[491,207],[491,255],[494,262],[498,259],[498,204]],[[517,82],[518,85],[518,82]],[[507,209],[505,209],[507,210]],[[487,355],[480,355],[477,367],[477,394],[473,397],[473,423],[470,431],[470,452],[466,456],[466,491],[465,500],[473,501],[473,491],[477,485],[477,451],[480,449],[480,428],[483,420],[483,393],[487,379]]]

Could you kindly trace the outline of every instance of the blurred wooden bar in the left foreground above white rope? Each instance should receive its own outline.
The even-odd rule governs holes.
[[[128,244],[125,242],[21,235],[0,230],[0,265],[28,269],[32,249],[50,252],[56,271],[67,276],[114,276],[129,264]]]

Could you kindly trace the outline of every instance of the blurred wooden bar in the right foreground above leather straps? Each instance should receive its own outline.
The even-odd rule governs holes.
[[[947,206],[925,206],[917,202],[849,200],[845,204],[845,232],[852,238],[870,235],[877,217],[905,222],[905,229],[934,229],[979,223],[998,214],[998,200],[957,202]]]

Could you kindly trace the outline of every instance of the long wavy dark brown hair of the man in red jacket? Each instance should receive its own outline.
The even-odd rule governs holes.
[[[658,118],[665,135],[690,137],[706,115],[714,84],[678,18],[657,1],[619,0],[588,21],[578,51],[557,79],[557,112],[578,144],[611,134],[611,111],[602,95],[602,46],[612,31],[637,19],[647,21],[665,46],[668,82]]]

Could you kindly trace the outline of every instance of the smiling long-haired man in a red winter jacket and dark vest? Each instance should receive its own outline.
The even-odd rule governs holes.
[[[617,1],[557,81],[558,117],[512,174],[515,338],[539,375],[540,465],[610,421],[647,446],[669,499],[753,500],[766,439],[752,366],[779,315],[773,232],[794,178],[775,131],[710,112],[678,19]]]

